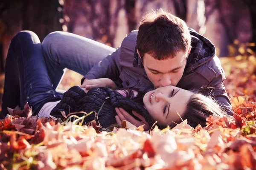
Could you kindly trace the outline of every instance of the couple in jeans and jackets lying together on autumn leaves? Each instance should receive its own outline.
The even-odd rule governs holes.
[[[80,87],[61,94],[55,89],[64,68],[85,76]],[[104,101],[99,119],[105,126],[121,120],[166,126],[181,116],[195,127],[209,115],[233,114],[214,45],[162,9],[143,17],[117,49],[59,31],[40,43],[22,31],[12,39],[5,74],[4,115],[26,102],[34,115],[58,117],[60,111],[98,111]]]

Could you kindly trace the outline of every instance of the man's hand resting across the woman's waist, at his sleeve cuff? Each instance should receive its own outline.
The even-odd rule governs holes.
[[[85,88],[86,90],[90,90],[91,88],[98,87],[109,87],[112,89],[116,89],[116,83],[113,80],[108,78],[100,78],[100,79],[84,79],[83,84],[80,88]]]

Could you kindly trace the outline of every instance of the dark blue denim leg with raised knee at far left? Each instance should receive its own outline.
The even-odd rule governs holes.
[[[55,91],[48,76],[40,40],[32,31],[21,31],[12,39],[6,59],[6,68],[9,67],[17,68],[15,75],[17,73],[19,75],[20,107],[23,108],[28,102],[32,106],[33,115],[35,115],[45,102],[61,99],[62,94]],[[6,70],[5,79],[7,81],[3,101],[6,96],[13,95],[9,94],[12,89],[7,89],[12,83],[9,79],[13,80],[12,77],[9,77],[11,74],[7,73],[9,71],[11,69]]]

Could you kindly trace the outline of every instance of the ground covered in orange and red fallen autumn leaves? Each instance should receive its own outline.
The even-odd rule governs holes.
[[[221,62],[234,117],[143,132],[129,122],[102,129],[82,118],[38,118],[26,105],[0,121],[0,169],[256,169],[256,58]]]

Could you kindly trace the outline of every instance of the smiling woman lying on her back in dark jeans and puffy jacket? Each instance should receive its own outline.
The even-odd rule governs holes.
[[[142,94],[136,89],[113,91],[111,88],[92,88],[86,93],[78,86],[74,86],[64,94],[58,93],[52,85],[44,54],[40,50],[41,44],[36,37],[31,31],[26,31],[20,32],[12,39],[6,58],[3,114],[7,114],[7,107],[14,108],[16,105],[23,107],[29,102],[33,115],[49,116],[51,113],[60,117],[62,116],[60,111],[65,111],[66,114],[77,111],[97,112],[105,101],[99,114],[99,122],[103,127],[123,119],[120,114],[116,117],[116,111],[117,113],[119,111],[118,109],[115,111],[115,108],[124,108],[130,113],[131,111],[140,113],[133,112],[133,116],[139,117],[140,124],[146,124],[148,127],[151,127],[155,120],[161,126],[179,123],[180,116],[183,119],[187,118],[193,127],[197,124],[205,126],[205,119],[209,115],[223,114],[212,99],[173,86],[150,91],[141,101]],[[115,84],[111,79],[105,80],[106,83]],[[140,105],[142,101],[145,108]],[[209,103],[210,107],[208,107]],[[141,122],[143,118],[145,118],[144,122]],[[88,116],[86,122],[92,119],[95,119],[94,115]]]

